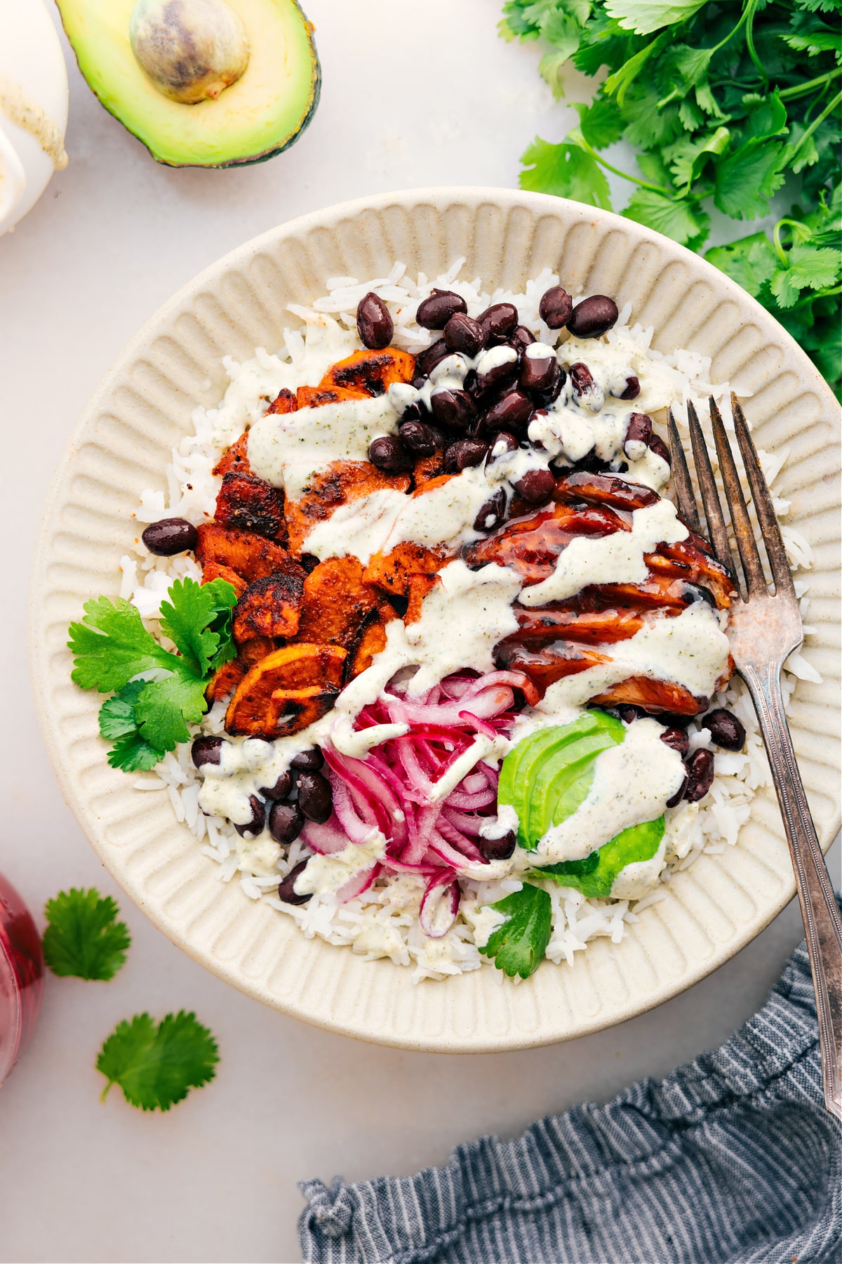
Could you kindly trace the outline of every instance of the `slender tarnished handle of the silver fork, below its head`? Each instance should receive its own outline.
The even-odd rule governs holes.
[[[842,1119],[842,921],[818,844],[780,691],[780,664],[742,669],[771,765],[813,971],[827,1109]]]

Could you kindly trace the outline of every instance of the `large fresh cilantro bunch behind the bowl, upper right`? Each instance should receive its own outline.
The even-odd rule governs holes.
[[[539,39],[557,96],[569,61],[608,76],[560,144],[535,139],[523,188],[611,210],[606,171],[634,186],[627,219],[692,250],[712,202],[732,219],[769,211],[790,176],[798,205],[773,239],[752,234],[708,258],[798,339],[837,391],[842,0],[507,0],[501,34]],[[639,174],[601,150],[625,138]]]

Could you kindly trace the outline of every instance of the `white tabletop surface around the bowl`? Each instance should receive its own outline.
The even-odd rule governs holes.
[[[205,973],[121,897],[63,804],[27,683],[27,576],[52,469],[122,344],[191,276],[279,221],[389,188],[511,186],[526,143],[560,139],[574,121],[539,82],[537,49],[497,39],[495,0],[307,9],[321,109],[288,154],[242,171],[157,166],[68,54],[69,167],[0,239],[0,868],[33,909],[96,884],[117,896],[134,938],[112,983],[48,980],[34,1044],[0,1095],[4,1261],[297,1260],[298,1179],[409,1173],[461,1140],[514,1136],[543,1112],[663,1076],[762,1002],[800,937],[790,905],[685,995],[572,1044],[400,1053],[282,1018]],[[182,1006],[218,1038],[216,1082],[168,1115],[134,1111],[116,1090],[100,1105],[93,1060],[112,1026]]]

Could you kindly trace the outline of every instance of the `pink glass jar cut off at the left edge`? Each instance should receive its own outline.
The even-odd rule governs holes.
[[[0,875],[0,1085],[24,1052],[44,991],[44,954],[32,915]]]

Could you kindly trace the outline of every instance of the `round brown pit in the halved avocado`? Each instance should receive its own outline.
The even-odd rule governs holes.
[[[249,39],[225,0],[138,0],[131,51],[149,81],[182,105],[215,101],[249,64]]]

